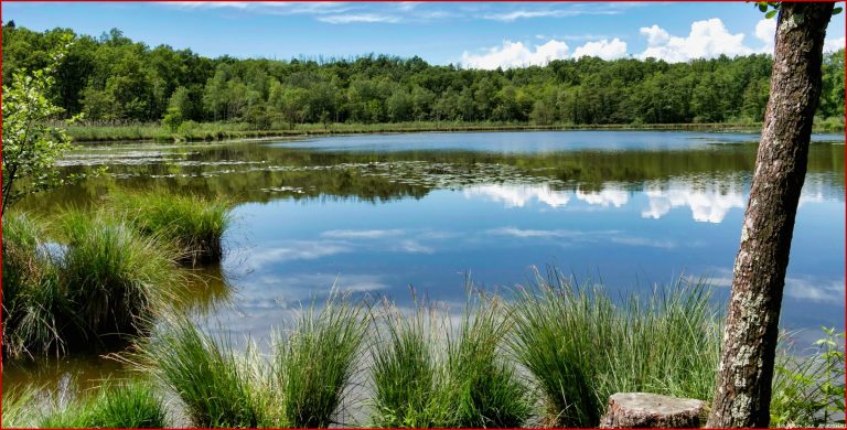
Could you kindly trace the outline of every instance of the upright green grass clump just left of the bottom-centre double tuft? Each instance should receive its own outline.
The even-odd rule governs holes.
[[[314,302],[275,346],[275,380],[286,421],[292,427],[329,427],[358,372],[368,320],[365,307],[333,291],[323,309]]]

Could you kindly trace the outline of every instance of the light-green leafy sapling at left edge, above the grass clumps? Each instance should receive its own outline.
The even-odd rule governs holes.
[[[1,213],[24,196],[63,182],[54,164],[71,149],[71,140],[64,130],[49,126],[47,121],[64,111],[50,96],[55,64],[63,60],[69,43],[69,37],[62,37],[49,55],[49,66],[31,74],[19,71],[12,74],[9,86],[3,85]]]

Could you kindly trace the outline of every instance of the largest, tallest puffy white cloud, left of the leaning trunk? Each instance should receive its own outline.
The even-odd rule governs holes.
[[[744,45],[744,34],[730,33],[718,18],[695,21],[686,37],[671,35],[658,25],[641,28],[640,32],[647,37],[647,49],[637,55],[640,58],[655,57],[676,63],[714,58],[721,54],[736,56],[753,53]]]

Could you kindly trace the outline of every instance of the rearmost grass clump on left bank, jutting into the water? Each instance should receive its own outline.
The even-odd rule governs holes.
[[[227,201],[156,192],[116,193],[112,201],[141,233],[174,240],[185,250],[183,259],[221,261],[221,239],[232,223]]]

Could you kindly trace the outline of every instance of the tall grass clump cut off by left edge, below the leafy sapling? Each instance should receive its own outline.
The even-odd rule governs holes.
[[[3,217],[3,355],[65,351],[64,332],[74,312],[62,283],[60,261],[47,248],[45,229],[25,214]]]

